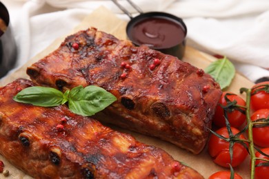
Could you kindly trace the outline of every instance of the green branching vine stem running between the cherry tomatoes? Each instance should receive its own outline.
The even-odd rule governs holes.
[[[255,85],[251,89],[248,89],[246,87],[241,87],[240,93],[241,94],[246,93],[246,106],[239,106],[240,107],[239,111],[242,112],[242,109],[244,109],[244,112],[246,114],[246,125],[244,125],[243,129],[238,131],[236,134],[234,132],[233,127],[231,127],[231,125],[229,123],[230,119],[228,118],[228,112],[229,112],[228,105],[230,105],[231,107],[234,106],[234,108],[235,108],[235,106],[237,105],[237,101],[230,101],[228,98],[226,98],[227,106],[221,106],[221,107],[223,108],[223,114],[224,114],[224,118],[225,118],[226,128],[227,128],[229,135],[228,135],[228,137],[223,137],[223,135],[217,134],[217,132],[212,131],[212,134],[215,134],[215,136],[218,136],[222,140],[225,140],[227,143],[229,143],[229,154],[230,154],[230,165],[231,166],[232,166],[232,160],[233,160],[233,156],[234,156],[234,154],[233,154],[234,149],[233,148],[235,147],[236,143],[239,143],[248,151],[248,154],[250,155],[250,178],[251,179],[255,178],[256,167],[268,167],[268,172],[269,172],[269,148],[266,148],[266,151],[268,151],[268,152],[263,152],[265,150],[257,147],[257,145],[255,143],[255,138],[253,138],[253,134],[254,134],[254,132],[256,132],[256,131],[253,131],[253,128],[256,129],[259,127],[268,127],[269,126],[269,115],[268,115],[268,113],[266,113],[266,115],[268,115],[267,117],[259,118],[257,120],[254,120],[251,116],[253,110],[257,111],[257,108],[253,109],[251,100],[252,100],[252,98],[254,98],[253,96],[255,96],[259,93],[262,93],[262,95],[265,96],[265,97],[263,97],[263,98],[265,98],[264,99],[265,102],[263,103],[263,107],[266,107],[266,112],[267,112],[267,110],[269,110],[268,102],[267,102],[267,98],[269,96],[268,89],[269,89],[269,82]],[[255,96],[255,98],[256,97],[257,96]],[[269,133],[269,130],[266,132]],[[248,136],[248,139],[239,138],[239,136],[241,134],[246,134]],[[263,136],[261,136],[261,137],[263,137]],[[267,147],[269,147],[269,146],[267,146]],[[233,173],[233,170],[231,170],[231,171],[232,171],[231,173]],[[230,177],[233,178],[234,176],[231,175]]]

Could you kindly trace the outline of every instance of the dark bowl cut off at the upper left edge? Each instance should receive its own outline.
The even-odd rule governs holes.
[[[3,20],[0,30],[0,78],[14,67],[17,48],[10,25],[10,16],[3,3],[0,2],[0,19]]]

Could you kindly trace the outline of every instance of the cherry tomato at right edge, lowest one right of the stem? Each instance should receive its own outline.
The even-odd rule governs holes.
[[[261,151],[264,154],[268,154],[269,155],[269,148],[261,149]],[[255,153],[255,156],[257,158],[266,158],[266,159],[269,160],[269,157],[263,156],[258,151]],[[262,162],[265,162],[265,161],[256,160],[255,165],[258,165],[259,163],[262,163]],[[268,178],[268,176],[269,176],[269,167],[266,167],[266,166],[255,167],[255,179],[266,179],[266,178]]]

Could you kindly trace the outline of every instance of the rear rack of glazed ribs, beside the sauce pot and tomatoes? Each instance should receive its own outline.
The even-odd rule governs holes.
[[[156,136],[199,154],[206,145],[219,84],[174,56],[135,47],[95,28],[66,38],[27,69],[37,85],[65,91],[97,85],[117,97],[103,110],[106,122]],[[103,115],[94,118],[103,120]]]

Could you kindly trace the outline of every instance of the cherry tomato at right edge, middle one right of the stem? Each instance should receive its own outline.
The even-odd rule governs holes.
[[[255,121],[260,118],[268,118],[269,109],[259,109],[252,114],[251,120]],[[269,126],[255,127],[253,126],[253,142],[260,147],[269,147]]]

